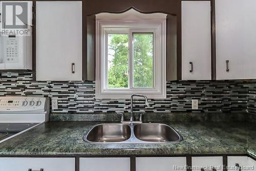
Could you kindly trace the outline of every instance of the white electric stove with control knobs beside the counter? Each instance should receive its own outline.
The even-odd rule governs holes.
[[[47,122],[49,113],[49,98],[0,97],[0,143]]]

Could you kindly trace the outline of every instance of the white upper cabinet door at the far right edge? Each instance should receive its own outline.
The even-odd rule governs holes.
[[[255,6],[255,0],[216,0],[217,79],[256,78]]]

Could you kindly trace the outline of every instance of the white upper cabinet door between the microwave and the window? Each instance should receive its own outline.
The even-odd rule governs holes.
[[[82,80],[82,2],[36,2],[36,80]]]

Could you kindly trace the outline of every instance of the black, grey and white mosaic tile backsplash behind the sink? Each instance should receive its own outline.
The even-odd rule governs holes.
[[[52,112],[114,112],[130,110],[129,99],[95,99],[91,81],[32,81],[31,72],[0,73],[0,96],[45,96],[58,99]],[[199,110],[191,110],[191,99],[199,100]],[[175,81],[167,82],[167,98],[135,101],[135,111],[147,112],[248,112],[256,113],[256,81]]]

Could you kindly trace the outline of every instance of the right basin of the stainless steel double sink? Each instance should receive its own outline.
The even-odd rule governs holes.
[[[137,139],[147,142],[180,142],[182,136],[172,127],[162,123],[141,123],[134,125]]]

